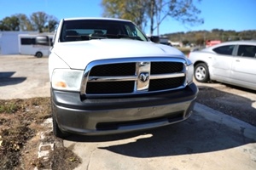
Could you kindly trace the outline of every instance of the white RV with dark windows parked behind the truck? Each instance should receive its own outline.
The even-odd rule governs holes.
[[[49,55],[53,35],[20,34],[19,53],[41,58]]]

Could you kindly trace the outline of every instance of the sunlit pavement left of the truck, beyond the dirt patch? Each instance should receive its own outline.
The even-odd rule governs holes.
[[[0,55],[0,99],[49,96],[48,59]]]

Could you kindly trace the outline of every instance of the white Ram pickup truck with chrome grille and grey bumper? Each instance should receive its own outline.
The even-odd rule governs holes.
[[[187,119],[198,88],[177,48],[129,20],[61,20],[49,55],[54,134],[125,133]]]

